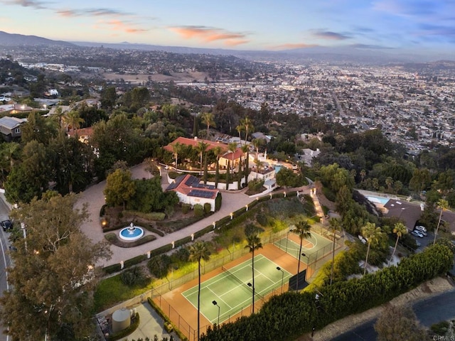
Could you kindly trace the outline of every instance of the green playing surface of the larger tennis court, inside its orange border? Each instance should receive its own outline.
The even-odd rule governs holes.
[[[228,271],[230,272],[223,271],[200,283],[200,313],[211,323],[218,323],[218,309],[220,323],[223,323],[252,303],[252,288],[248,286],[248,283],[252,283],[251,259]],[[280,288],[282,282],[287,283],[289,277],[291,277],[289,272],[284,269],[278,270],[277,264],[267,257],[262,254],[255,256],[255,301],[263,300],[265,295],[275,288]],[[196,309],[198,308],[198,286],[184,291],[182,295]]]

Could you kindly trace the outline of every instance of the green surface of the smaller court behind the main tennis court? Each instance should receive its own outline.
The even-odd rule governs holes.
[[[292,232],[291,232],[292,233]],[[299,248],[300,244],[294,242],[293,240],[289,239],[288,236],[277,240],[274,242],[274,246],[282,249],[283,251],[287,252],[291,256],[294,256],[296,259],[299,259]],[[309,245],[309,243],[311,245]],[[309,258],[302,256],[300,257],[301,261],[305,264],[311,263],[316,259],[319,259],[321,255],[326,253],[327,251],[331,251],[331,245],[333,242],[330,240],[321,237],[319,234],[312,232],[311,237],[308,239],[304,239],[303,245],[301,247],[302,253],[306,254]]]

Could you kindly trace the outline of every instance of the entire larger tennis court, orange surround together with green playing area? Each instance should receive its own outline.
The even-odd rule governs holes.
[[[285,236],[284,239],[287,237]],[[288,241],[288,247],[290,242]],[[306,248],[312,247],[311,239],[303,242]],[[294,244],[293,241],[292,243]],[[225,264],[226,269],[230,269],[233,274],[239,276],[232,277],[221,267],[201,275],[201,333],[205,332],[208,325],[218,323],[218,319],[220,324],[223,324],[233,322],[240,316],[251,314],[252,289],[247,288],[252,281],[251,256],[251,254],[245,254],[239,259]],[[303,271],[307,268],[307,264],[304,262],[304,257],[301,258],[300,271]],[[296,274],[297,265],[298,261],[295,255],[288,254],[277,245],[266,244],[263,249],[255,251],[255,312],[259,311],[264,302],[268,301],[271,296],[279,295],[288,290],[289,277]],[[311,266],[306,271],[307,278],[314,273]],[[195,278],[168,293],[164,293],[162,296],[154,298],[161,310],[168,315],[190,341],[197,340],[197,289],[198,278]]]

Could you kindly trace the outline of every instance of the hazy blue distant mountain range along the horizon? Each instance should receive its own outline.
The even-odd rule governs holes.
[[[61,40],[50,40],[38,36],[23,36],[0,31],[0,45],[23,46],[23,45],[58,45],[67,47],[104,47],[120,50],[149,50],[164,51],[169,53],[196,53],[210,55],[234,55],[247,60],[273,60],[273,61],[326,61],[330,63],[425,63],[432,60],[455,60],[452,55],[417,55],[395,53],[394,50],[379,49],[368,46],[352,45],[348,47],[327,48],[299,48],[293,50],[269,51],[269,50],[225,50],[222,48],[188,48],[183,46],[161,46],[136,43],[92,43]]]

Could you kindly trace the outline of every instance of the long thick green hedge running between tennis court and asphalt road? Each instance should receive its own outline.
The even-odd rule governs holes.
[[[322,295],[318,301],[314,298],[315,292],[309,291],[273,296],[259,313],[239,318],[235,323],[227,323],[215,330],[209,327],[200,341],[295,340],[311,332],[312,328],[319,330],[348,315],[387,303],[424,281],[446,274],[453,258],[454,254],[448,247],[437,244],[402,259],[398,266],[319,288]]]

